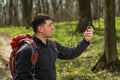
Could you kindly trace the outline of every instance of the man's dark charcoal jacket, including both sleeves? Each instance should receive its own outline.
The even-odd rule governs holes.
[[[36,79],[38,80],[56,80],[56,58],[69,60],[79,56],[89,45],[89,42],[82,40],[73,47],[65,47],[57,42],[58,52],[47,40],[46,45],[38,38],[33,36],[38,46],[38,60],[36,63]],[[29,80],[31,78],[31,55],[32,50],[29,44],[25,44],[17,53],[16,58],[16,77],[15,80]]]

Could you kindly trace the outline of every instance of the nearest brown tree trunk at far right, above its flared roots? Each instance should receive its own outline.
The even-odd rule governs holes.
[[[115,1],[105,0],[105,53],[107,63],[115,62],[117,58],[115,30]]]

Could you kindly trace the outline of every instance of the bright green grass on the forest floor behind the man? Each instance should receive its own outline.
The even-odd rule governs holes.
[[[78,41],[82,40],[83,34],[75,33],[76,21],[55,23],[56,29],[52,40],[56,40],[63,45],[73,46]],[[95,26],[94,37],[91,45],[84,51],[84,53],[73,60],[57,60],[57,80],[120,80],[120,73],[108,72],[101,70],[93,73],[91,68],[96,64],[100,56],[104,52],[104,25],[103,19],[100,19],[100,27],[98,22],[94,21]],[[120,19],[116,18],[116,34],[117,34],[117,48],[118,57],[120,58]],[[6,27],[0,28],[0,33],[9,34],[13,37],[18,34],[33,34],[32,29],[25,29],[24,27]]]

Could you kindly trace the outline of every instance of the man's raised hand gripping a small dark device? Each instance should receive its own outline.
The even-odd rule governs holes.
[[[89,42],[93,37],[93,27],[88,26],[86,31],[84,32],[84,39]]]

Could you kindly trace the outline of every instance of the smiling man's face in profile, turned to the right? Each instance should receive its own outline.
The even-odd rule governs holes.
[[[52,37],[53,30],[54,30],[54,26],[52,20],[46,20],[45,24],[43,25],[43,32],[42,32],[43,36],[46,38]]]

